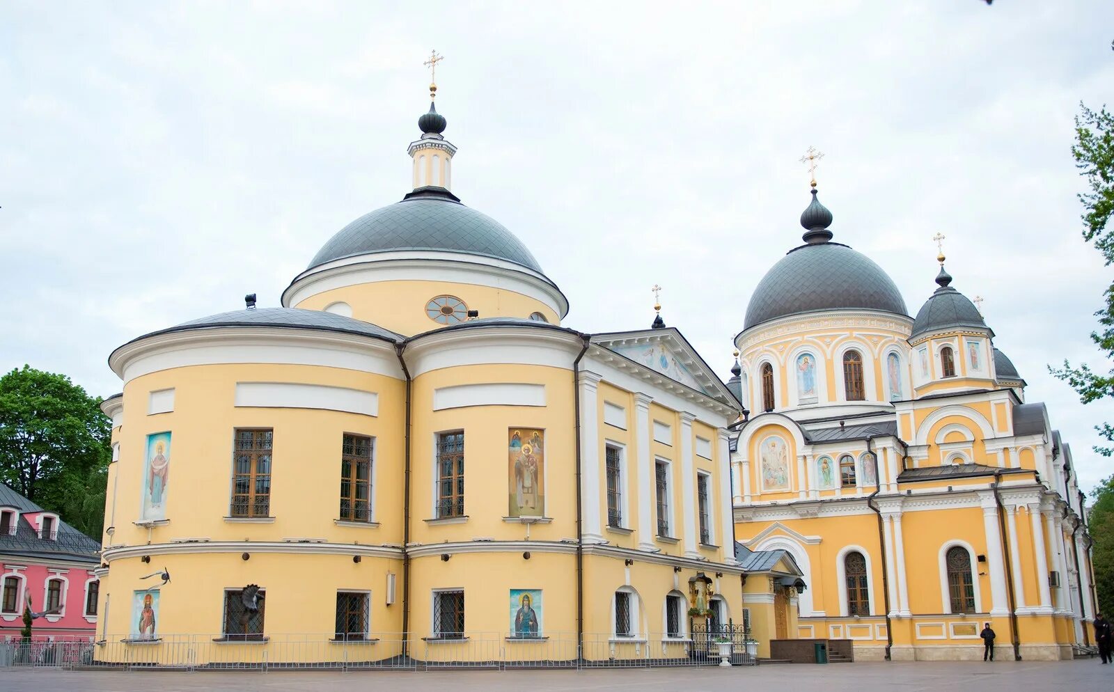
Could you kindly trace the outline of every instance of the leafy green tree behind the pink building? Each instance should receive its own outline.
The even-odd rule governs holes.
[[[0,480],[100,536],[111,423],[63,374],[30,366],[0,377]]]

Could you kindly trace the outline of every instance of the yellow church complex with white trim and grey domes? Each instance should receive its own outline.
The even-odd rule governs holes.
[[[724,382],[659,315],[564,324],[529,250],[451,192],[432,104],[419,127],[412,192],[282,306],[111,353],[97,660],[965,657],[984,621],[1026,657],[1085,641],[1071,451],[942,269],[910,319],[813,191]]]

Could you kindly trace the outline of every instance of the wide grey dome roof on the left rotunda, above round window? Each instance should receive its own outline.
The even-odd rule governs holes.
[[[332,260],[392,250],[440,250],[485,255],[541,267],[502,224],[461,204],[448,191],[424,188],[369,212],[326,242],[310,267]]]

